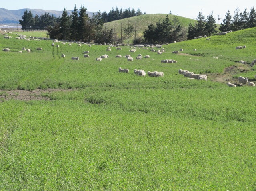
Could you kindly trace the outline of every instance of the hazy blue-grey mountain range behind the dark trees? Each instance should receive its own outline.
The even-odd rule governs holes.
[[[22,16],[24,15],[24,11],[31,10],[33,16],[36,14],[38,16],[43,15],[46,13],[49,13],[50,15],[54,15],[56,17],[61,17],[62,11],[55,11],[55,10],[43,10],[43,9],[29,9],[29,8],[24,8],[24,9],[18,9],[18,10],[8,10],[4,8],[0,8],[0,24],[5,24],[5,23],[17,23],[18,20],[22,20]],[[70,15],[72,10],[67,10],[68,14]],[[88,16],[92,16],[93,13],[96,12],[90,12],[86,11]]]

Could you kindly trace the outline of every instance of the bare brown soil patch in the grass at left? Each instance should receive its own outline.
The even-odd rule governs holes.
[[[73,89],[36,89],[36,90],[0,90],[0,101],[2,100],[50,100],[49,97],[42,96],[43,93],[51,93],[55,91],[72,91]]]

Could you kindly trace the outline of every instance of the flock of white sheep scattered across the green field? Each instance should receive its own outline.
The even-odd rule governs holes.
[[[4,31],[6,32],[6,31]],[[227,31],[227,32],[223,32],[223,33],[218,33],[219,35],[224,35],[224,34],[227,34],[231,31]],[[7,32],[8,34],[12,34],[12,32]],[[11,36],[8,36],[8,34],[4,34],[4,38],[11,38]],[[16,34],[18,35],[18,34]],[[198,38],[203,38],[202,36],[199,36],[199,37],[195,37],[194,39],[198,39]],[[205,35],[204,38],[207,38],[207,36]],[[29,37],[27,38],[25,35],[19,35],[19,37],[16,37],[16,39],[25,39],[25,40],[35,40],[34,37]],[[209,40],[210,38],[207,38],[207,40]],[[39,39],[40,40],[40,39]],[[54,43],[59,43],[58,40],[53,40],[52,42],[52,46],[55,46]],[[62,44],[66,44],[68,42],[62,42]],[[68,45],[72,45],[72,43],[74,42],[70,42],[68,43]],[[90,43],[83,43],[83,42],[76,42],[78,44],[78,46],[81,46],[81,44],[86,44],[88,45],[89,47],[91,47],[91,44]],[[98,43],[94,43],[94,45],[102,45],[102,44],[98,44]],[[112,44],[105,44],[105,45],[109,45],[107,48],[106,48],[106,51],[111,51],[111,47],[116,47],[115,49],[116,50],[122,50],[122,48],[120,46],[124,46],[125,44],[118,44],[116,46],[112,45]],[[56,47],[60,47],[58,44],[56,45]],[[162,54],[165,52],[164,48],[162,48],[162,45],[146,45],[146,47],[144,47],[144,45],[134,45],[134,47],[130,47],[131,49],[129,50],[131,53],[135,53],[136,52],[136,48],[138,49],[146,49],[148,50],[148,48],[151,48],[150,51],[151,52],[156,52],[157,54]],[[154,48],[158,48],[158,50],[156,51]],[[162,49],[161,49],[162,48]],[[237,46],[236,49],[244,49],[246,48],[246,46]],[[10,51],[9,48],[5,48],[5,49],[2,49],[3,51]],[[36,50],[40,51],[42,50],[42,48],[37,48]],[[21,52],[22,51],[27,51],[27,52],[30,52],[31,50],[30,49],[26,49],[25,47],[22,48]],[[180,49],[180,51],[183,51],[183,49]],[[196,51],[196,49],[194,49],[194,51]],[[178,54],[179,51],[173,51],[172,53],[175,53],[175,54]],[[89,56],[89,51],[84,51],[83,52],[84,54],[84,58],[90,58]],[[65,58],[66,56],[64,54],[61,55],[62,58]],[[104,54],[104,55],[101,55],[99,57],[96,58],[96,61],[102,61],[102,59],[106,59],[108,58],[109,56],[107,54]],[[133,61],[133,57],[131,57],[130,54],[126,54],[124,56],[122,55],[116,55],[115,56],[116,58],[122,58],[122,57],[125,57],[127,59],[127,61]],[[138,54],[138,56],[136,56],[136,59],[138,60],[141,60],[143,57],[141,54]],[[150,58],[150,55],[145,55],[144,56],[145,59],[149,59]],[[72,60],[79,60],[79,57],[71,57]],[[145,60],[146,61],[146,60]],[[176,60],[173,60],[173,59],[164,59],[164,60],[161,60],[161,63],[177,63]],[[246,64],[246,61],[244,60],[241,60],[239,61],[239,63],[242,63],[242,64]],[[256,59],[254,59],[254,61],[252,61],[251,65],[254,65],[256,63]],[[128,73],[129,72],[129,69],[122,69],[121,67],[118,69],[119,72],[123,72],[123,73]],[[190,72],[188,70],[182,70],[182,69],[179,69],[179,73],[180,74],[183,74],[184,77],[188,77],[189,79],[198,79],[198,80],[204,80],[204,81],[207,81],[207,75],[200,75],[200,74],[194,74],[193,72]],[[146,72],[142,69],[140,70],[137,70],[137,69],[134,69],[134,74],[135,75],[138,75],[138,76],[145,76],[146,75]],[[158,72],[158,71],[154,71],[154,72],[150,72],[148,71],[147,72],[148,76],[150,77],[163,77],[164,76],[164,73],[163,72]],[[255,75],[256,77],[256,75]],[[244,78],[242,76],[238,77],[238,82],[240,85],[248,85],[248,86],[255,86],[255,84],[253,82],[249,82],[248,83],[248,78]],[[227,83],[228,86],[230,87],[236,87],[236,84],[232,84],[230,82]]]

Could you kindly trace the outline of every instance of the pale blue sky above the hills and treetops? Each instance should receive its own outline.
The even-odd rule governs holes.
[[[0,8],[9,10],[17,10],[22,8],[29,9],[44,9],[44,10],[73,10],[74,6],[79,9],[81,5],[87,8],[87,11],[109,12],[112,8],[139,8],[143,13],[154,14],[164,13],[183,16],[187,18],[196,19],[199,12],[206,17],[213,11],[214,17],[224,18],[226,12],[230,10],[231,15],[234,15],[236,8],[240,8],[243,12],[245,8],[250,12],[250,8],[256,8],[255,0],[8,0],[6,3],[1,3]],[[221,21],[221,20],[220,20]]]

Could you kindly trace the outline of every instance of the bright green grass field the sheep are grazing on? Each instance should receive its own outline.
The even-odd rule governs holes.
[[[256,59],[256,28],[163,45],[162,55],[131,53],[129,46],[57,48],[12,36],[0,37],[0,48],[10,48],[0,51],[1,191],[256,190],[256,87],[226,85],[238,84],[238,76],[255,82],[249,63]],[[22,47],[31,52],[19,53]],[[104,54],[109,58],[96,61]],[[115,58],[126,54],[134,61]],[[137,60],[138,54],[150,58]],[[134,69],[164,77],[137,76]],[[179,69],[207,74],[208,81],[190,80]],[[47,101],[6,100],[17,89],[62,91],[41,93]]]

